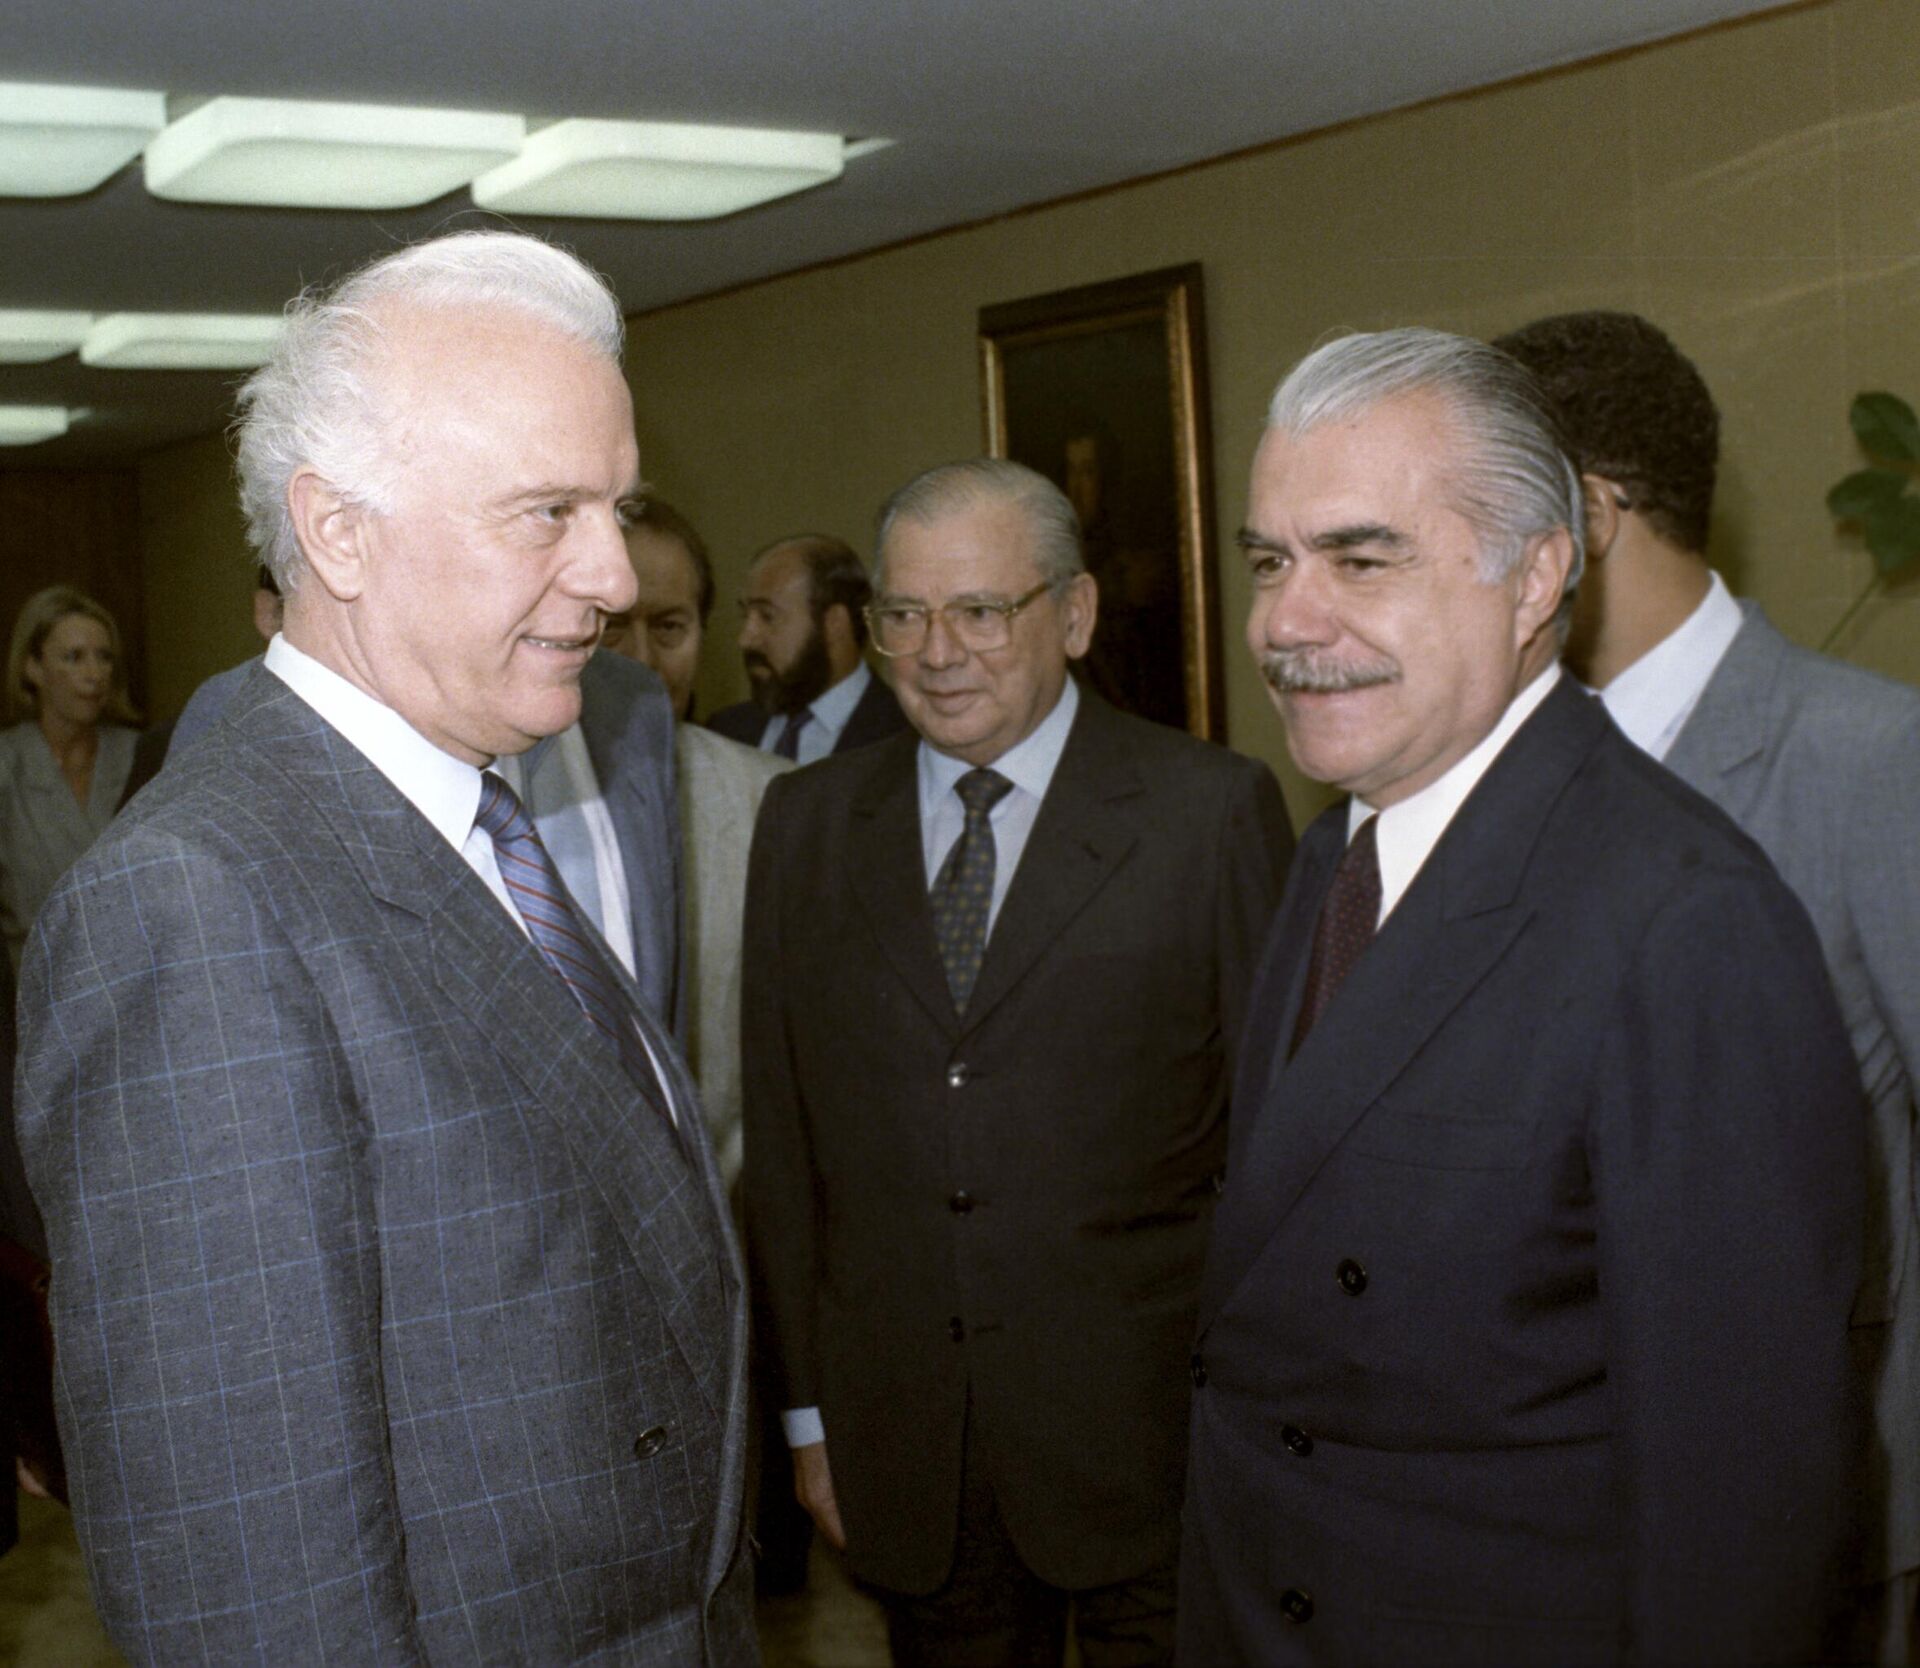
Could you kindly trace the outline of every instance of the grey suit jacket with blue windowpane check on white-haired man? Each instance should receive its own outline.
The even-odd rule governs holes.
[[[755,1660],[745,1307],[499,902],[253,670],[50,900],[19,1132],[94,1601],[136,1660]]]

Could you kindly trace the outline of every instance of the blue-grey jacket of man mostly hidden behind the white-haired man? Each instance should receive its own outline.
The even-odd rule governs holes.
[[[213,724],[259,658],[215,672],[173,724],[167,758],[177,758]],[[607,820],[620,846],[634,921],[634,981],[651,1013],[685,1035],[687,967],[682,937],[680,812],[674,791],[674,712],[655,674],[611,651],[580,678],[580,733],[593,760]],[[528,754],[528,764],[538,754]]]

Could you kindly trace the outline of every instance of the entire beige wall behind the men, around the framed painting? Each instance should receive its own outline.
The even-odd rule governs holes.
[[[707,534],[720,612],[703,708],[743,691],[745,557],[799,528],[868,539],[881,495],[981,445],[975,313],[1181,261],[1206,265],[1229,735],[1321,795],[1238,645],[1227,539],[1273,382],[1325,332],[1492,334],[1632,307],[1726,413],[1715,557],[1801,641],[1868,574],[1826,488],[1857,465],[1847,401],[1920,399],[1920,29],[1912,0],[1832,0],[636,319],[649,478]],[[142,468],[154,704],[252,653],[219,441]],[[1920,595],[1849,658],[1920,679]]]

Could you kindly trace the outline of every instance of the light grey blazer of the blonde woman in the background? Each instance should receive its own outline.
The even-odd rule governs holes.
[[[46,894],[113,822],[138,739],[134,729],[100,726],[94,781],[81,806],[36,722],[0,729],[0,937],[15,969]]]

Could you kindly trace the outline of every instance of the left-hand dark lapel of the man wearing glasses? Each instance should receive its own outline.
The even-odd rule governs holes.
[[[874,749],[872,774],[854,789],[847,822],[852,894],[900,983],[947,1033],[958,1031],[947,969],[933,942],[927,870],[920,841],[920,737],[912,731]]]

